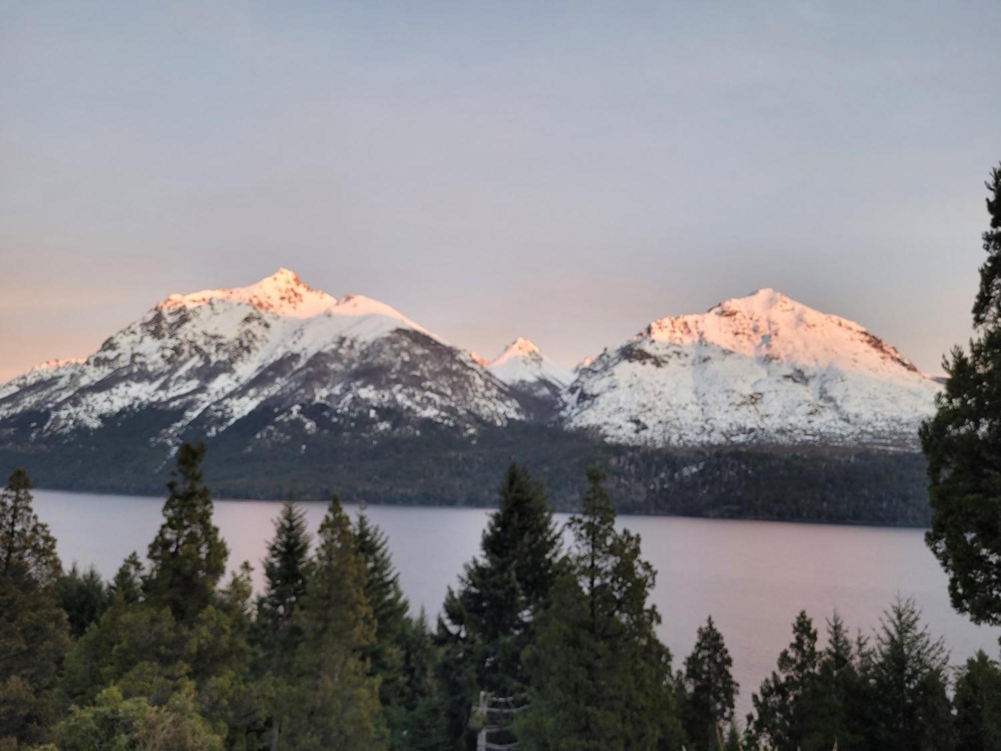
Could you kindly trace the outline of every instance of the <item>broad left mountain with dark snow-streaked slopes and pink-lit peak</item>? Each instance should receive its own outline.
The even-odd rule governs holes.
[[[333,297],[288,269],[250,286],[171,294],[85,360],[0,386],[0,442],[114,428],[152,443],[242,420],[281,442],[317,431],[405,435],[421,422],[475,433],[523,417],[467,353],[378,300]]]

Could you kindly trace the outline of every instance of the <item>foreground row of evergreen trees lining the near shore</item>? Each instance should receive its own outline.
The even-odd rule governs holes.
[[[602,472],[558,528],[546,489],[504,472],[479,554],[432,627],[411,614],[386,539],[334,497],[314,537],[286,504],[255,598],[228,579],[200,469],[183,445],[145,562],[110,582],[62,570],[23,470],[0,495],[0,749],[708,751],[1001,749],[1001,668],[955,679],[914,604],[871,642],[807,615],[734,716],[712,619],[675,670],[656,572],[617,528]],[[566,541],[566,542],[565,542]]]

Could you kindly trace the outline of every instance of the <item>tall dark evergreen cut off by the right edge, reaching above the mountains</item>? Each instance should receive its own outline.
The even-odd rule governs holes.
[[[973,306],[978,337],[952,350],[938,411],[921,428],[928,459],[928,545],[949,574],[953,607],[1001,624],[1001,167],[987,183],[987,260]]]

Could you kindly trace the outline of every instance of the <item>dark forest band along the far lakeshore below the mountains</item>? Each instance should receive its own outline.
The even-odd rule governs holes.
[[[113,432],[65,446],[0,448],[0,466],[28,466],[39,487],[150,495],[170,469],[170,451],[151,445],[141,416]],[[831,447],[645,449],[606,444],[543,425],[483,429],[474,439],[440,426],[418,438],[372,446],[353,436],[310,437],[247,453],[254,425],[237,423],[209,439],[206,479],[220,498],[491,507],[483,477],[513,458],[545,478],[560,511],[580,509],[580,478],[589,467],[608,476],[624,514],[927,526],[924,457],[909,451]]]

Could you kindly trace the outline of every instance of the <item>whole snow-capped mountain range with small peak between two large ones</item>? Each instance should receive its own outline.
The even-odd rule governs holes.
[[[111,452],[136,477],[155,475],[201,438],[269,477],[294,456],[331,476],[359,452],[405,465],[417,439],[466,464],[485,444],[550,451],[530,435],[612,466],[630,447],[913,453],[940,389],[862,325],[774,289],[652,321],[570,370],[522,337],[486,360],[383,302],[334,297],[282,268],[170,294],[85,359],[0,386],[0,459],[46,468],[50,485],[105,487],[85,457]]]

